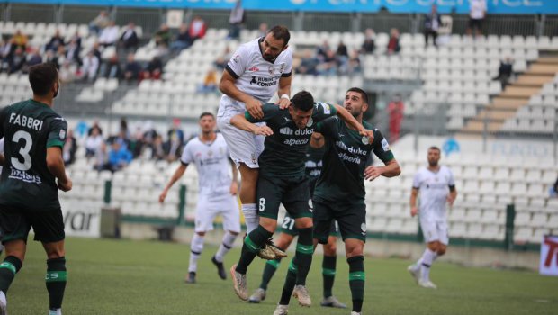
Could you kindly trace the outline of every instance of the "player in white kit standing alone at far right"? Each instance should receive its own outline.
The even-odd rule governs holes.
[[[448,167],[440,166],[439,161],[440,149],[428,148],[428,167],[419,169],[410,193],[410,215],[414,217],[419,213],[420,228],[427,242],[427,249],[408,270],[417,284],[432,289],[437,286],[430,281],[430,268],[437,257],[446,254],[449,243],[446,204],[451,207],[457,197],[454,175]],[[419,192],[420,206],[417,207]]]

